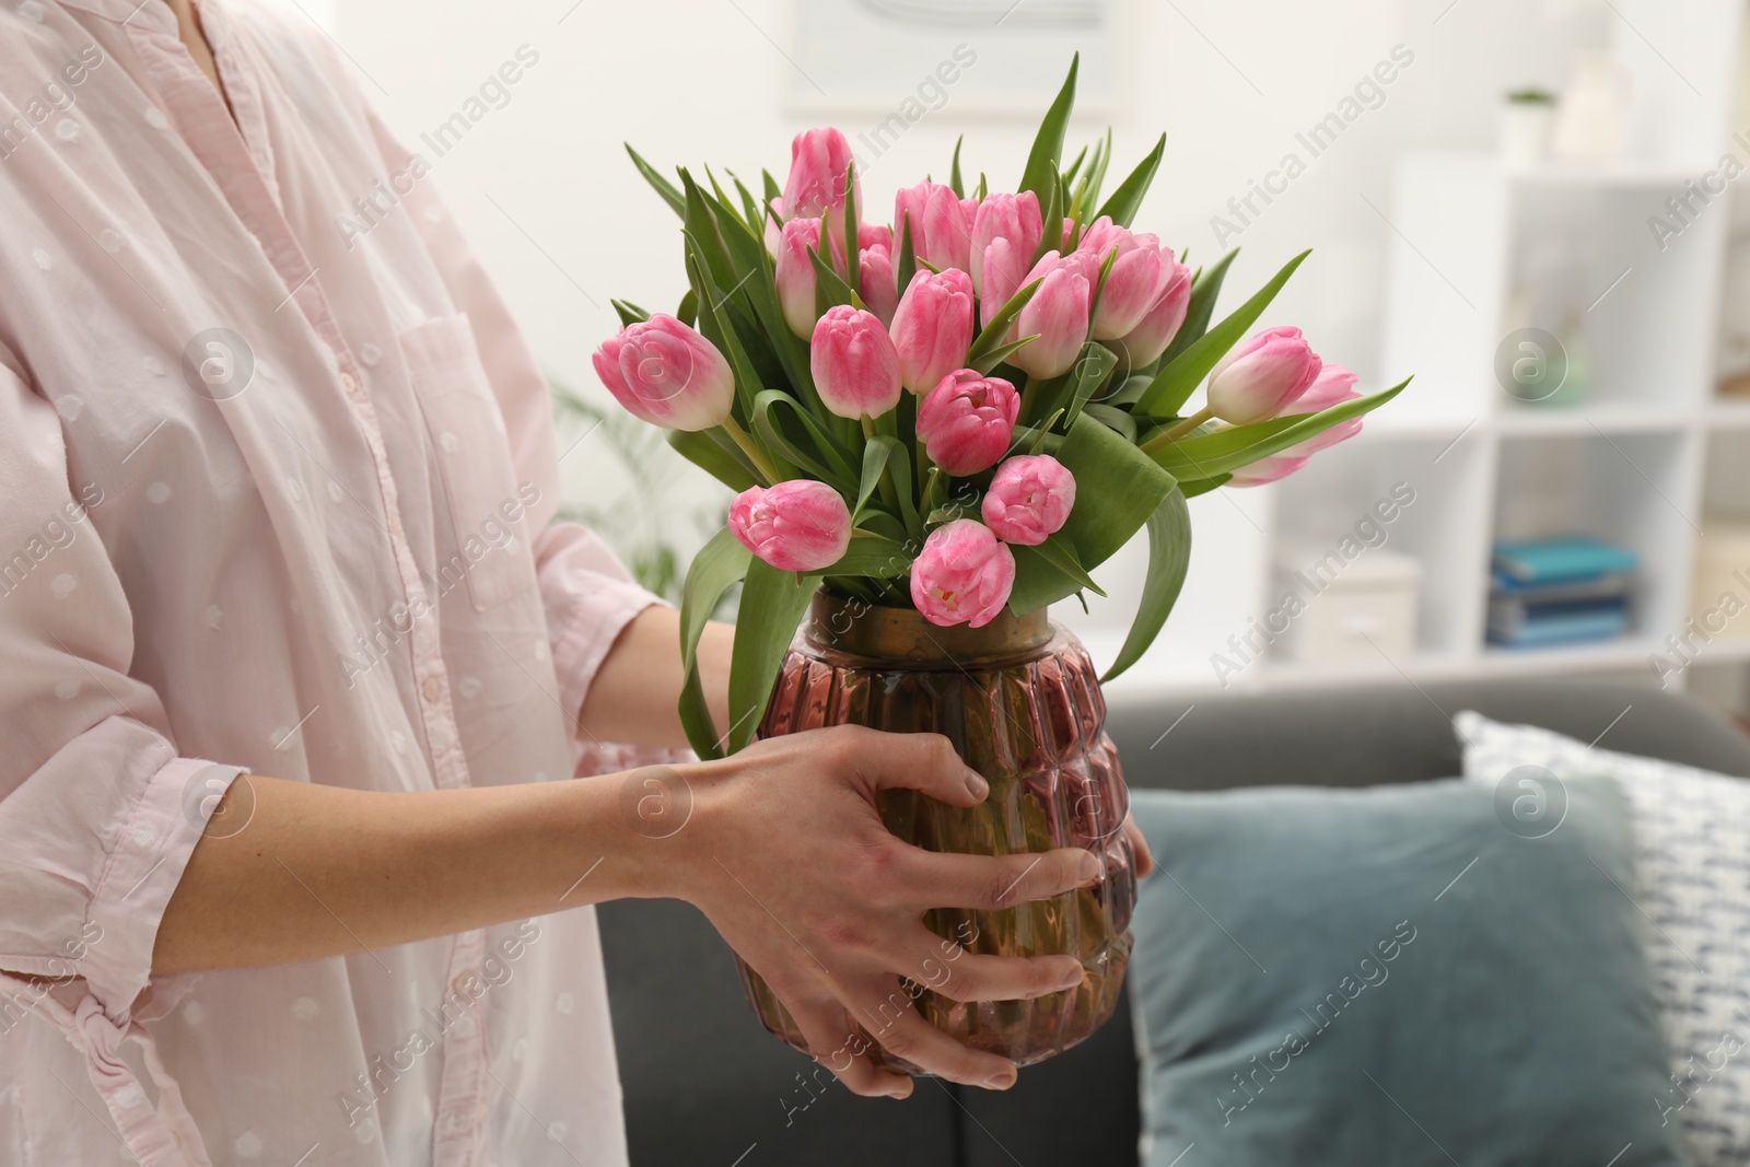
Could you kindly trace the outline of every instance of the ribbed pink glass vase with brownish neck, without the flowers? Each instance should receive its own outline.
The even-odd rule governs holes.
[[[936,908],[924,917],[968,952],[1082,961],[1080,989],[1032,1001],[961,1003],[905,983],[933,1025],[1017,1066],[1062,1053],[1099,1029],[1124,989],[1136,856],[1122,831],[1129,794],[1104,723],[1094,663],[1043,611],[1004,612],[984,628],[936,628],[912,609],[821,591],[760,724],[760,737],[836,724],[943,733],[985,775],[990,796],[962,810],[912,791],[884,793],[880,812],[894,835],[943,852],[1085,847],[1101,856],[1101,880],[1090,889],[1001,912]],[[737,964],[765,1027],[807,1053],[789,1011],[756,971]],[[915,1069],[870,1036],[873,1057]]]

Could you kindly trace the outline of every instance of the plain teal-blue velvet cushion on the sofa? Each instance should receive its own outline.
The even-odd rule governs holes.
[[[1507,794],[1132,794],[1148,1167],[1687,1162],[1622,796]]]

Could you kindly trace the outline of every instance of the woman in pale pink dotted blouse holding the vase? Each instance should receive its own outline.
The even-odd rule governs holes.
[[[872,1018],[942,957],[924,908],[1094,857],[887,835],[882,787],[985,793],[931,735],[665,752],[676,614],[550,525],[541,376],[411,170],[296,14],[0,9],[0,1160],[623,1164],[616,896],[704,910],[858,1094],[910,1090],[859,1025],[1006,1088]],[[604,759],[667,765],[558,780]],[[948,962],[962,999],[1082,976]]]

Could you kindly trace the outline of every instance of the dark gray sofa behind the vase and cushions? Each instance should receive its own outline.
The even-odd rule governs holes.
[[[1750,737],[1696,702],[1620,682],[1197,698],[1178,721],[1188,705],[1111,710],[1108,731],[1132,787],[1451,777],[1460,751],[1447,716],[1461,709],[1586,742],[1608,726],[1601,749],[1750,777]],[[800,1083],[810,1062],[754,1020],[730,950],[702,915],[674,901],[623,901],[600,919],[634,1167],[1136,1162],[1136,1057],[1124,1006],[1082,1046],[1022,1071],[1004,1094],[924,1080],[908,1101],[891,1102],[833,1085],[803,1106],[814,1097]]]

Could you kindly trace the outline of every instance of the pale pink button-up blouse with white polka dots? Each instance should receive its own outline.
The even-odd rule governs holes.
[[[0,5],[0,1162],[625,1164],[588,908],[150,975],[238,768],[565,779],[653,602],[336,49],[201,10],[231,110],[161,0]]]

